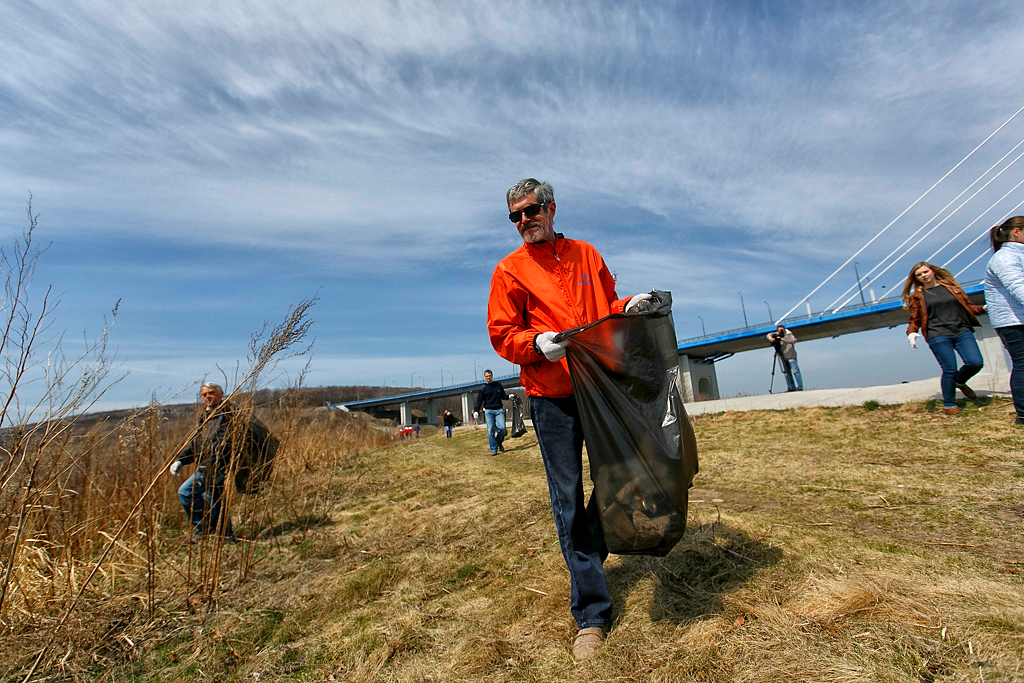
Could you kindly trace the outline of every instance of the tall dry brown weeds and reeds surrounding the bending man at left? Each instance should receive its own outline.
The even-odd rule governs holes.
[[[272,407],[252,403],[276,381],[278,364],[309,350],[315,297],[300,302],[282,324],[252,336],[228,396],[245,414],[263,414],[282,439],[265,495],[228,493],[247,542],[188,544],[178,482],[167,467],[193,437],[195,421],[160,404],[121,420],[81,419],[119,380],[106,354],[111,324],[79,355],[63,354],[62,337],[52,331],[56,298],[48,289],[38,301],[29,296],[42,254],[31,198],[28,216],[23,239],[0,251],[0,628],[7,636],[0,678],[52,671],[74,678],[83,661],[130,653],[129,634],[158,611],[215,605],[225,585],[246,581],[257,539],[272,542],[275,529],[314,522],[330,499],[324,473],[345,450],[376,447],[387,432],[310,419],[287,393]],[[310,477],[318,477],[311,487]],[[120,638],[113,650],[112,637]]]

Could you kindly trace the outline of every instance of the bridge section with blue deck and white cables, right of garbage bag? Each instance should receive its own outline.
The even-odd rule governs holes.
[[[991,253],[988,232],[1024,206],[1024,113],[1021,108],[863,246],[800,299],[781,317],[763,326],[680,340],[679,355],[688,399],[719,398],[714,364],[735,353],[766,348],[776,325],[801,341],[905,325],[901,294],[906,273],[928,261],[948,269],[976,303],[984,302],[983,275]],[[964,186],[966,185],[966,186]],[[964,186],[949,198],[949,187]],[[955,191],[955,190],[952,190]],[[874,261],[861,274],[858,265]],[[853,272],[850,272],[852,266]],[[842,289],[841,273],[854,284]],[[967,282],[965,282],[965,280]],[[883,293],[882,297],[876,295]],[[814,312],[812,299],[831,301]],[[745,317],[745,314],[744,314]],[[976,331],[986,366],[1006,367],[1001,344],[980,318]]]

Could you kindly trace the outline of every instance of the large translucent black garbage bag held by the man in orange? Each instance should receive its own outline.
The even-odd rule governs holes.
[[[608,551],[665,555],[686,530],[697,445],[683,409],[672,295],[560,333]]]

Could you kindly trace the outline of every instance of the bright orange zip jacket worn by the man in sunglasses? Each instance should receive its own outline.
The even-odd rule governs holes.
[[[616,298],[615,281],[597,250],[559,233],[554,245],[523,243],[495,267],[487,333],[498,354],[521,367],[528,395],[571,396],[565,359],[545,358],[534,349],[534,338],[621,313],[628,302]]]

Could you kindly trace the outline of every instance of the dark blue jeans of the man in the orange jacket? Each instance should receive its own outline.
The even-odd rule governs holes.
[[[597,498],[584,507],[583,425],[575,398],[530,396],[529,414],[548,474],[558,545],[569,570],[569,610],[577,627],[608,628],[611,595],[604,575],[608,547]]]

